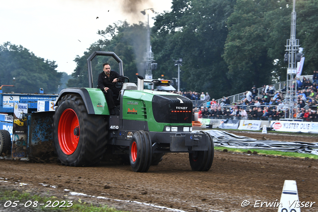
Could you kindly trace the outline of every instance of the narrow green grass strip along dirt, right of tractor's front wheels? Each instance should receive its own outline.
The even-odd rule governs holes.
[[[277,155],[277,156],[285,156],[285,157],[299,157],[299,158],[313,158],[318,159],[318,155],[316,154],[306,154],[306,153],[298,153],[298,152],[289,152],[289,151],[275,151],[275,150],[261,150],[261,149],[245,149],[245,148],[228,148],[224,146],[215,146],[215,150],[224,151],[227,149],[228,151],[239,152],[239,153],[253,153],[254,151],[257,154],[266,154],[266,155]]]

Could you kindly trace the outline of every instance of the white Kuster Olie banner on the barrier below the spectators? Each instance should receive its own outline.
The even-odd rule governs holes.
[[[270,127],[281,132],[318,133],[317,122],[271,121]]]

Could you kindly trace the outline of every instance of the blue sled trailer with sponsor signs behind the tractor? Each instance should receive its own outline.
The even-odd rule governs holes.
[[[58,94],[1,91],[0,158],[25,160],[53,151],[52,120]],[[38,145],[45,146],[40,150]]]

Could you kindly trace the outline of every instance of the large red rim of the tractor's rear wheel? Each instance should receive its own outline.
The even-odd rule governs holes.
[[[79,144],[79,118],[70,108],[63,111],[60,117],[58,138],[65,154],[72,154]]]

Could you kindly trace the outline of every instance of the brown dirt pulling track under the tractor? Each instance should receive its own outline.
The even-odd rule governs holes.
[[[264,136],[236,134],[251,138],[260,137],[259,139]],[[265,137],[268,137],[268,140],[278,140],[269,134]],[[280,135],[279,138],[281,139],[278,141],[304,141],[304,138],[299,136]],[[316,137],[306,139],[317,142]],[[171,211],[129,203],[137,201],[187,212],[277,212],[277,208],[253,206],[256,200],[278,202],[284,180],[296,180],[300,201],[318,202],[317,162],[313,159],[217,151],[210,171],[193,172],[187,153],[170,153],[163,157],[158,166],[151,166],[147,173],[134,173],[130,165],[111,163],[101,163],[97,167],[67,167],[57,163],[36,164],[0,160],[0,177],[7,178],[10,182],[20,179],[19,182],[28,185],[19,188],[31,193],[47,194],[47,191],[50,191],[50,195],[76,201],[81,199],[98,205],[112,205],[126,211]],[[44,187],[39,183],[58,187]],[[0,182],[0,185],[2,188],[17,187],[17,184],[9,182]],[[71,196],[70,191],[64,189],[111,200]],[[249,201],[250,205],[241,207],[244,200]],[[316,212],[318,203],[312,208],[301,210]]]

